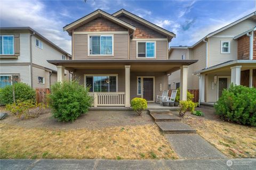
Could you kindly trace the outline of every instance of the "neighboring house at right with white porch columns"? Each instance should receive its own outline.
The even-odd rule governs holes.
[[[188,89],[199,89],[201,103],[214,103],[231,83],[256,87],[255,12],[210,33],[193,46],[170,47],[169,59],[198,60],[189,66]],[[169,88],[180,82],[169,75]]]

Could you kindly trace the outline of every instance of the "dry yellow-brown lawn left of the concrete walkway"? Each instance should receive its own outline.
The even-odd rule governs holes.
[[[49,130],[0,124],[1,158],[177,159],[156,125]]]

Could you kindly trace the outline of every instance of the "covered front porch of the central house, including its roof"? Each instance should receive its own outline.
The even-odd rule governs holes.
[[[134,97],[145,98],[150,109],[166,109],[155,104],[157,95],[167,89],[167,74],[181,70],[180,99],[187,99],[188,65],[191,60],[73,60],[49,61],[57,65],[58,81],[64,69],[72,71],[75,80],[90,87],[92,109],[130,108]],[[153,106],[154,105],[154,106]],[[171,108],[170,108],[171,109]]]

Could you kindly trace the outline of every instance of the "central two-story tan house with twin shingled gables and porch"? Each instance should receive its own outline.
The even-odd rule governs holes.
[[[67,69],[90,87],[95,107],[130,107],[134,97],[154,102],[167,89],[167,73],[180,68],[181,86],[187,89],[187,66],[196,61],[168,60],[174,33],[137,15],[96,10],[63,30],[72,37],[73,60],[49,63],[57,65],[59,81]],[[186,95],[187,90],[181,91],[182,100]]]

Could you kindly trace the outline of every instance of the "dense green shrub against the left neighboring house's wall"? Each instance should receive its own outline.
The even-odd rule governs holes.
[[[15,83],[10,86],[6,86],[0,89],[0,104],[12,104],[13,101],[13,88],[15,100],[25,101],[33,100],[36,101],[36,92],[25,83]]]

